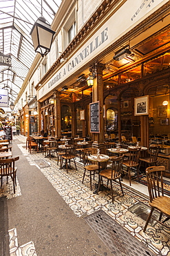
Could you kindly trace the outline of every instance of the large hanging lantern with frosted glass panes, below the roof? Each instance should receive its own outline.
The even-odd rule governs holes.
[[[41,17],[34,23],[30,35],[36,53],[40,53],[41,56],[47,55],[50,52],[52,46],[52,39],[55,32],[51,29],[50,24],[43,17],[43,3],[41,0]]]

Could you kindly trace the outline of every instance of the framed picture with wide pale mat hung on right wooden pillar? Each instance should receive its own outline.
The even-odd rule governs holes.
[[[134,116],[149,115],[149,95],[134,98]]]

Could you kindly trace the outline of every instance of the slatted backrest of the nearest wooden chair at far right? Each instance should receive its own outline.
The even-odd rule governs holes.
[[[164,196],[163,187],[163,172],[165,167],[162,166],[150,166],[146,169],[147,174],[147,186],[149,191],[150,202],[160,196]]]

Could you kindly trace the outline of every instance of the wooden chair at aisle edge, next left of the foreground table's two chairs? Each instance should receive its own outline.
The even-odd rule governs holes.
[[[76,167],[76,152],[75,152],[75,145],[65,145],[65,154],[61,156],[61,166],[63,165],[63,160],[65,160],[66,170],[68,173],[68,162],[69,165],[71,164],[71,160],[74,161],[74,165]],[[76,167],[77,170],[77,167]]]

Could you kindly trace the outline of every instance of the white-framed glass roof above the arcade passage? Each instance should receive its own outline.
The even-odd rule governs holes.
[[[0,89],[8,89],[8,105],[17,98],[36,55],[30,36],[34,22],[42,13],[52,24],[61,1],[0,1],[0,53],[12,58],[11,67],[0,66]]]

